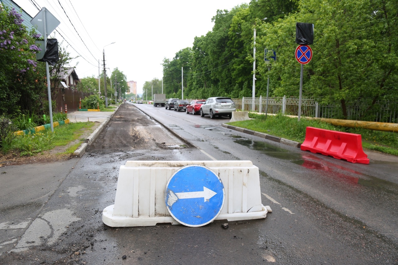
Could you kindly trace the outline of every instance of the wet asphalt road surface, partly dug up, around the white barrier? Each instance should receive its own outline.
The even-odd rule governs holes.
[[[228,121],[123,104],[81,159],[45,165],[59,184],[51,173],[24,183],[15,169],[19,186],[0,209],[0,264],[398,264],[395,157],[351,164],[221,127]],[[251,160],[273,212],[228,229],[110,228],[101,212],[127,160]],[[32,186],[30,197],[19,193]]]

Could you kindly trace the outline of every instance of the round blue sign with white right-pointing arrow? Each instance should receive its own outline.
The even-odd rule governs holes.
[[[180,224],[197,227],[212,222],[224,205],[225,190],[219,176],[200,165],[184,166],[169,179],[164,200]]]

